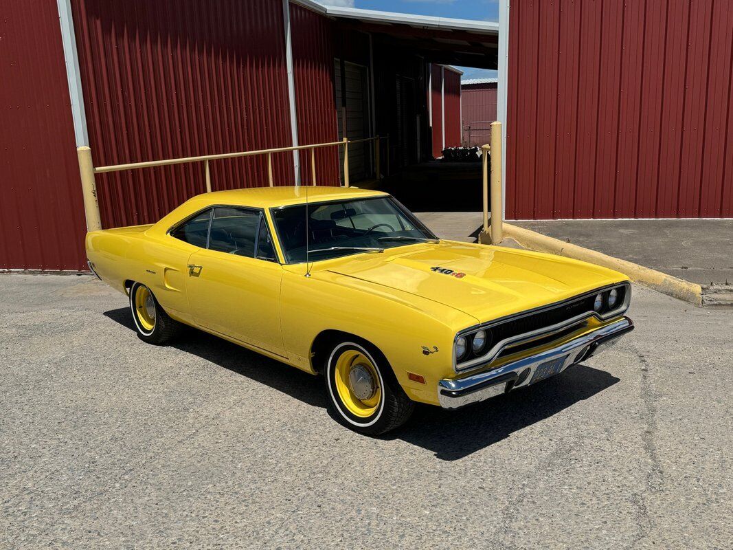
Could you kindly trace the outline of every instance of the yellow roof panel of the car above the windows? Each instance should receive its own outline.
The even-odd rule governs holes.
[[[343,199],[364,199],[367,197],[387,197],[382,191],[359,189],[356,187],[327,186],[283,186],[253,187],[232,189],[231,191],[214,191],[197,195],[191,202],[199,203],[200,208],[206,205],[237,205],[253,208],[277,208],[279,206],[301,205],[306,202],[321,202]]]

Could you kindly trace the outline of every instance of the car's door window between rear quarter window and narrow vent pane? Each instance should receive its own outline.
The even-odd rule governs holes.
[[[209,249],[254,258],[259,212],[243,208],[214,208]]]

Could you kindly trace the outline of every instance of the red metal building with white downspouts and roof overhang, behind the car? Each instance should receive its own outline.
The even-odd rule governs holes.
[[[4,7],[0,269],[86,268],[78,146],[109,166],[379,135],[388,137],[381,169],[394,170],[432,158],[432,67],[497,63],[496,23],[312,0]],[[460,111],[453,80],[443,87],[446,117]],[[460,141],[457,118],[445,130],[446,144]],[[374,176],[375,156],[350,146],[352,181]],[[317,150],[314,161],[319,184],[340,183],[336,150]],[[312,183],[311,162],[272,155],[273,183]],[[180,164],[97,174],[102,227],[157,221],[205,191],[204,172]],[[263,157],[210,164],[213,190],[268,185],[268,176]]]

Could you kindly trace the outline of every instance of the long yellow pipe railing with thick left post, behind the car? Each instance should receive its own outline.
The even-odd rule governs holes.
[[[311,184],[316,185],[316,162],[315,150],[322,147],[344,147],[344,186],[350,185],[349,178],[349,145],[375,142],[375,177],[381,179],[380,175],[380,139],[388,139],[389,136],[375,136],[364,139],[347,139],[340,142],[316,143],[310,145],[297,145],[292,147],[276,147],[273,149],[261,149],[256,151],[240,151],[238,153],[221,153],[218,155],[199,155],[183,158],[166,158],[162,161],[144,161],[128,164],[113,164],[111,166],[94,166],[92,161],[92,150],[89,147],[78,147],[77,155],[79,161],[79,172],[81,174],[81,188],[84,197],[84,213],[86,215],[86,227],[89,231],[102,229],[102,222],[99,213],[99,202],[97,202],[97,187],[95,174],[106,174],[108,172],[121,172],[122,170],[136,170],[141,168],[152,168],[153,166],[171,166],[173,164],[190,164],[194,162],[204,163],[204,180],[207,193],[212,190],[210,161],[218,161],[224,158],[250,157],[254,155],[267,155],[268,157],[268,184],[274,186],[273,182],[273,153],[287,153],[288,151],[310,150],[311,152]],[[387,155],[389,163],[389,155]],[[389,164],[387,164],[389,166]]]

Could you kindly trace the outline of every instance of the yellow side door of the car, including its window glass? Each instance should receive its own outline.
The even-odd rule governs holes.
[[[261,210],[214,208],[207,247],[189,259],[186,290],[194,322],[284,356],[282,275]]]

